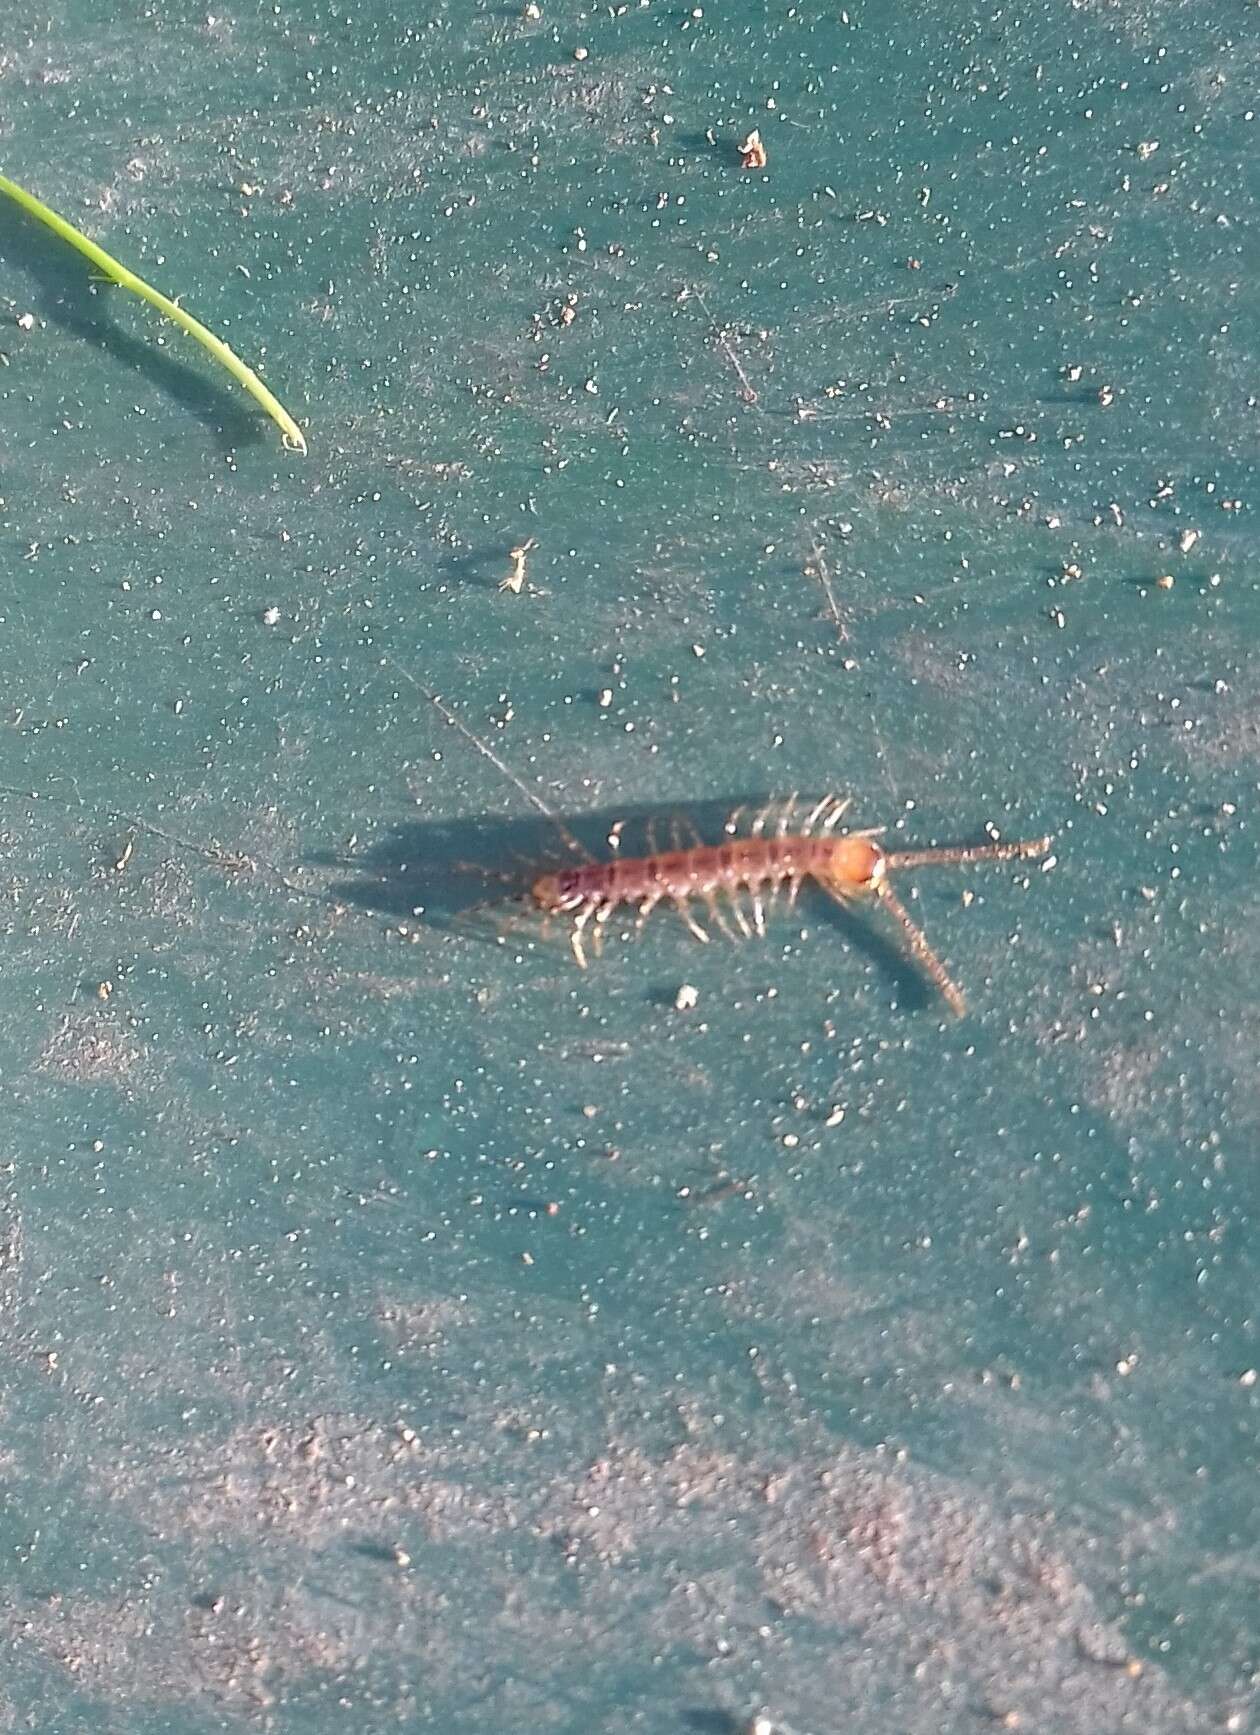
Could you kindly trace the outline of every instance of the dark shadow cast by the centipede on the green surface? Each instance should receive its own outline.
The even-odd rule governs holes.
[[[673,848],[675,838],[684,848],[698,836],[717,843],[734,809],[757,812],[765,802],[764,795],[743,795],[720,802],[691,802],[675,810],[620,807],[561,814],[561,826],[581,845],[585,857],[569,848],[559,826],[543,815],[498,819],[477,814],[408,821],[392,826],[370,848],[354,855],[326,855],[321,864],[345,869],[347,878],[330,887],[330,894],[344,904],[397,921],[479,933],[489,942],[498,933],[496,911],[507,914],[514,906],[524,906],[529,887],[548,869],[583,859],[607,861],[609,836],[618,838],[618,854],[623,857]],[[885,932],[878,909],[842,909],[805,887],[798,925],[802,920],[821,940],[826,939],[826,930],[838,930],[856,953],[896,985],[902,1005],[923,1006],[932,999],[896,937]],[[670,916],[661,911],[653,921],[668,923]],[[679,946],[692,947],[696,942],[682,925],[677,926]],[[778,928],[776,923],[771,925],[771,944],[776,932],[790,933],[790,918],[781,916]],[[564,946],[562,933],[557,932],[554,944]]]

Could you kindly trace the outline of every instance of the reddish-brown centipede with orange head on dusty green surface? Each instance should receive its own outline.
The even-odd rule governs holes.
[[[654,838],[649,838],[653,850],[649,855],[541,874],[531,887],[531,899],[548,916],[573,918],[573,956],[585,970],[587,926],[594,923],[592,937],[599,951],[604,926],[623,906],[637,907],[642,926],[658,904],[672,904],[691,933],[698,940],[708,940],[708,932],[696,921],[692,909],[696,900],[705,906],[715,928],[736,939],[725,920],[727,909],[739,933],[748,937],[753,932],[765,933],[765,914],[779,892],[786,892],[791,906],[805,880],[812,880],[840,904],[850,904],[863,895],[876,897],[899,923],[925,975],[941,991],[951,1012],[961,1017],[965,1012],[961,989],[892,890],[889,874],[901,868],[1029,861],[1045,855],[1050,838],[972,843],[958,848],[885,850],[875,841],[878,831],[837,831],[847,809],[849,802],[828,795],[809,812],[798,812],[798,798],[790,796],[757,814],[746,836],[736,835],[741,822],[741,810],[736,810],[725,824],[724,843],[696,841],[684,848],[675,831],[675,847],[658,850]],[[767,826],[771,826],[769,835]],[[748,899],[748,913],[743,897]],[[725,902],[725,909],[719,899]]]

